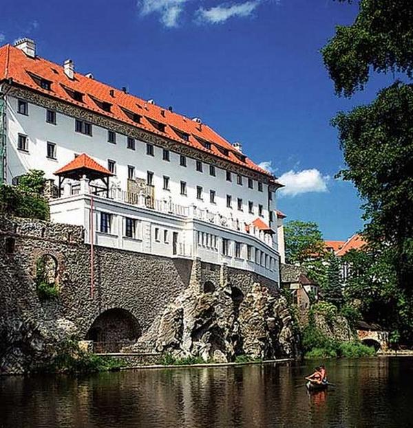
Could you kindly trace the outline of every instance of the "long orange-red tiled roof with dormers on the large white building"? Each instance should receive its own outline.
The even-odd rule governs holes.
[[[30,58],[17,47],[4,45],[0,47],[0,81],[12,78],[13,82],[28,87],[52,98],[58,98],[64,102],[83,107],[100,115],[112,117],[112,119],[136,126],[162,137],[168,137],[180,144],[186,144],[198,150],[211,153],[216,157],[231,161],[233,164],[244,166],[251,170],[273,177],[272,174],[257,166],[248,157],[245,161],[240,160],[240,154],[232,144],[218,135],[206,124],[199,124],[178,113],[173,113],[161,106],[149,102],[110,87],[105,83],[98,82],[82,74],[75,73],[74,79],[68,78],[61,65],[57,65],[39,56]],[[42,88],[36,79],[43,78],[51,82],[51,89]],[[70,92],[78,91],[83,94],[83,101],[76,101]],[[105,111],[99,105],[101,102],[111,104],[110,110]],[[129,113],[129,115],[128,115]],[[140,123],[134,122],[130,115],[140,116]],[[165,124],[165,132],[158,131],[153,122]],[[179,135],[178,133],[181,133]],[[189,135],[188,141],[182,138],[182,133]],[[202,146],[201,142],[209,142],[211,149]],[[228,150],[228,155],[222,153]],[[242,155],[244,156],[244,155]],[[275,177],[273,177],[275,181]]]

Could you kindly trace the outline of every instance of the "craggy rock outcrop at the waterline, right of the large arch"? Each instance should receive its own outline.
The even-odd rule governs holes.
[[[255,283],[246,295],[229,285],[208,293],[189,287],[156,317],[136,348],[141,342],[174,357],[227,362],[241,354],[294,357],[298,341],[286,300]]]

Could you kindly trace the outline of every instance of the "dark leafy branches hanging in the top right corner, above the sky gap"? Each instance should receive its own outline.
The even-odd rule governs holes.
[[[350,96],[363,89],[370,69],[412,78],[413,1],[360,0],[354,23],[338,25],[321,52],[337,94]]]

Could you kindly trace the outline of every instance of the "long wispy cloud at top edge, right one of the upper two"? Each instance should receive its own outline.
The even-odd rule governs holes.
[[[222,24],[233,16],[249,16],[260,5],[261,0],[245,1],[240,4],[221,4],[211,9],[198,9],[197,21],[202,23]]]

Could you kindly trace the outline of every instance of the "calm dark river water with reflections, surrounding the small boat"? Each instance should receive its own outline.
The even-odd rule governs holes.
[[[413,427],[413,359],[327,363],[336,387],[300,387],[312,365],[0,378],[0,427]]]

